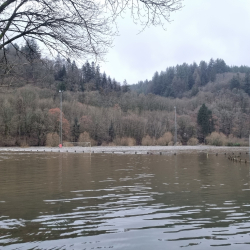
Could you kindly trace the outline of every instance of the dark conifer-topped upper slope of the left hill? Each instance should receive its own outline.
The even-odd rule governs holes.
[[[19,52],[16,51],[18,47]],[[129,87],[124,80],[121,85],[100,71],[99,65],[86,61],[78,67],[75,61],[59,55],[55,59],[41,57],[41,51],[34,39],[27,39],[24,46],[7,46],[4,51],[8,60],[6,67],[0,67],[1,85],[21,87],[33,84],[53,90],[111,91],[127,92]],[[0,51],[0,57],[3,51]]]

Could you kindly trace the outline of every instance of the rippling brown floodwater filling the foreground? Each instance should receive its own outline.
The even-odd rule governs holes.
[[[0,246],[248,249],[249,197],[224,155],[0,153]]]

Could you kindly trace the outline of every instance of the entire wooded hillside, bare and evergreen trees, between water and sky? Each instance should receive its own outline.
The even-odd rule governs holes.
[[[247,145],[250,68],[222,59],[186,63],[128,86],[70,58],[42,57],[34,40],[1,51],[0,145]]]

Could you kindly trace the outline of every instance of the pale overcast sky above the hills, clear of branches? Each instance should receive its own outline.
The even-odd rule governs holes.
[[[169,66],[224,59],[228,65],[250,66],[249,0],[184,0],[184,7],[171,14],[173,20],[161,27],[141,27],[129,18],[119,20],[120,36],[114,40],[105,71],[128,84],[150,80]]]

